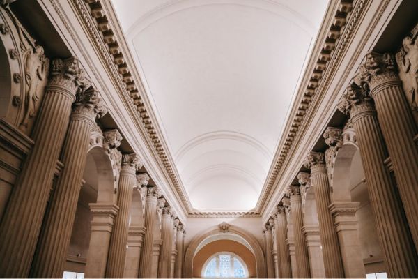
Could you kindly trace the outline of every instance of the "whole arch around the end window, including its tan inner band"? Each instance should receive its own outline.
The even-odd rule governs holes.
[[[244,229],[225,223],[207,229],[189,243],[183,277],[201,277],[205,263],[219,252],[238,255],[247,266],[248,277],[265,277],[264,254],[258,241]]]

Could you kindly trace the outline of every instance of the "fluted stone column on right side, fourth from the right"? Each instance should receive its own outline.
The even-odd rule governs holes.
[[[302,234],[302,198],[300,197],[300,186],[291,186],[291,209],[293,234],[295,237],[296,266],[298,278],[309,278],[308,250]]]

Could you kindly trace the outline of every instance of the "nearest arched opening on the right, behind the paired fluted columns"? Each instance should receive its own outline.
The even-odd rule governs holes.
[[[336,153],[331,199],[332,202],[357,202],[357,211],[355,211],[357,238],[364,269],[366,273],[385,272],[382,248],[376,235],[376,218],[367,190],[362,158],[353,140],[346,141]]]

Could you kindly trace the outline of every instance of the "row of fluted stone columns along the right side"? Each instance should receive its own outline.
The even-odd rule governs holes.
[[[387,274],[390,278],[415,278],[418,147],[414,137],[418,130],[394,65],[392,54],[367,54],[338,109],[350,116],[350,129],[357,138]],[[335,156],[341,146],[342,133],[339,128],[328,127],[324,133],[329,146],[326,154],[309,152],[303,165],[311,173],[301,172],[297,178],[301,186],[310,183],[314,187],[325,276],[359,278],[364,277],[355,220],[359,203],[331,201],[327,171],[332,168],[325,162],[325,155]],[[396,182],[385,165],[388,156]],[[277,255],[276,278],[309,278],[313,274],[309,273],[309,241],[303,234],[307,227],[302,222],[300,186],[290,186],[286,194],[265,225],[268,276],[272,277],[273,255]],[[286,224],[286,220],[290,222]],[[270,244],[268,231],[272,226],[277,236]]]

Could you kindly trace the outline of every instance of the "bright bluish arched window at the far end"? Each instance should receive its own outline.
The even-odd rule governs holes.
[[[203,269],[202,278],[247,278],[249,272],[247,264],[240,256],[233,252],[217,252],[210,256]]]

